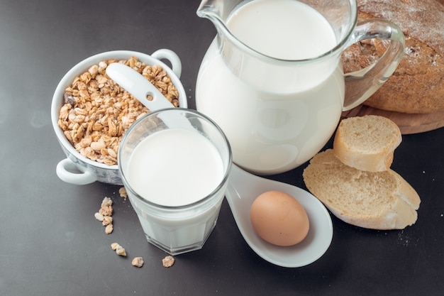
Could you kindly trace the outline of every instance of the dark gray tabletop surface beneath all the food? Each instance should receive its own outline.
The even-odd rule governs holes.
[[[395,153],[392,168],[422,198],[417,223],[372,231],[333,218],[331,247],[304,268],[259,258],[225,201],[204,248],[163,268],[165,253],[146,243],[118,186],[57,178],[55,165],[64,155],[50,124],[52,92],[85,57],[170,48],[182,59],[194,108],[197,70],[216,33],[196,16],[198,6],[0,0],[0,295],[443,295],[443,128],[404,136]],[[272,178],[304,187],[304,166]],[[111,235],[94,219],[105,196],[115,202]],[[128,258],[111,251],[114,241]],[[131,266],[133,256],[145,258],[143,268]]]

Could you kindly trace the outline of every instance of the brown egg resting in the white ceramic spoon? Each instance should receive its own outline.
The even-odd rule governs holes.
[[[251,205],[250,220],[262,239],[277,246],[292,246],[309,233],[309,217],[304,207],[285,192],[260,194]]]

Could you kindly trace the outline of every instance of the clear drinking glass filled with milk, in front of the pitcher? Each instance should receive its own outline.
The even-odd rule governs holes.
[[[198,111],[162,109],[126,131],[118,170],[148,242],[177,255],[202,248],[216,226],[231,148]]]

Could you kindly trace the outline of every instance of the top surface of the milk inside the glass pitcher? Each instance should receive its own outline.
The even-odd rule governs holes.
[[[294,0],[256,0],[228,18],[236,38],[264,55],[304,60],[331,50],[333,29],[326,18]]]

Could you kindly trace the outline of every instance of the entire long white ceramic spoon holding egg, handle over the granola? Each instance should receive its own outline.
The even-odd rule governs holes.
[[[142,75],[123,64],[108,66],[106,73],[121,87],[138,99],[151,111],[173,107],[172,104]],[[146,99],[147,94],[154,98]],[[169,126],[187,126],[183,118],[166,119]],[[190,127],[191,128],[191,127]],[[309,234],[294,246],[274,246],[260,239],[250,223],[250,207],[261,193],[269,190],[287,192],[296,198],[309,216]],[[295,268],[313,263],[325,253],[333,238],[331,216],[326,207],[309,192],[299,187],[252,175],[233,164],[226,199],[245,241],[260,257],[275,265]]]

